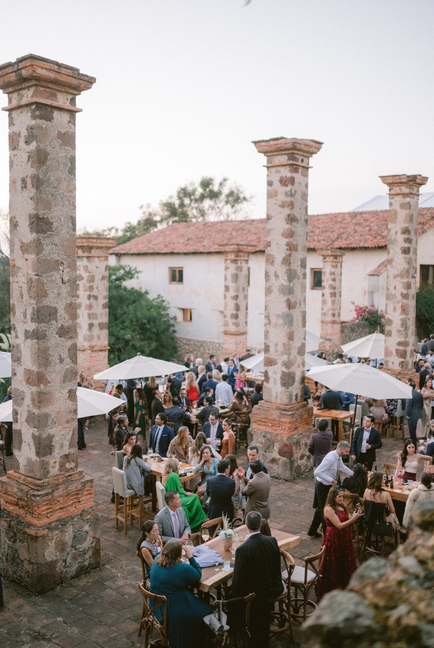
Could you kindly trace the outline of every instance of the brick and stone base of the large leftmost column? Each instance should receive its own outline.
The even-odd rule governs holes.
[[[0,497],[6,578],[43,594],[100,566],[99,509],[82,470],[46,480],[11,470],[0,480]]]

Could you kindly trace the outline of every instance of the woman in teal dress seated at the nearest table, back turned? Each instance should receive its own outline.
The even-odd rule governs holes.
[[[179,478],[178,478],[179,479]],[[185,557],[190,564],[181,562],[183,546],[181,540],[173,538],[163,547],[151,568],[150,591],[166,596],[167,631],[170,648],[200,648],[205,645],[207,628],[203,617],[212,613],[211,607],[190,592],[189,585],[198,583],[202,570],[194,560],[190,547],[184,547]],[[155,618],[163,621],[163,610],[159,607]]]

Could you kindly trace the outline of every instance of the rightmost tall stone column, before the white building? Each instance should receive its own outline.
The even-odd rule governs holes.
[[[397,378],[413,370],[416,325],[419,188],[428,178],[380,176],[389,187],[384,368]]]

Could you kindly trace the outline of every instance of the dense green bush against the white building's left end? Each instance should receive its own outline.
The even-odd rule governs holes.
[[[176,355],[175,318],[158,295],[127,288],[124,284],[139,272],[130,266],[109,267],[109,364],[135,354],[172,360]]]

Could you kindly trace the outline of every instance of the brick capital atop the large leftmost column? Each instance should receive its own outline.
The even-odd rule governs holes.
[[[73,112],[75,97],[95,83],[93,76],[80,73],[77,67],[52,61],[43,56],[27,54],[14,63],[0,65],[0,89],[8,95],[10,111],[30,104],[45,104]]]

